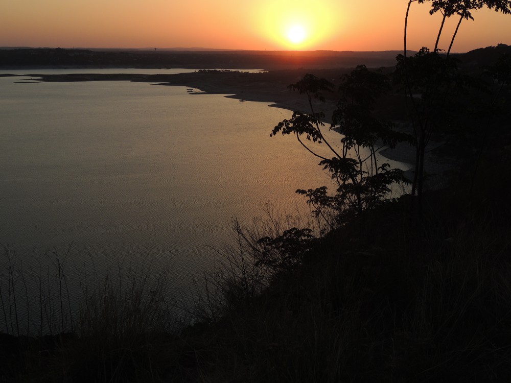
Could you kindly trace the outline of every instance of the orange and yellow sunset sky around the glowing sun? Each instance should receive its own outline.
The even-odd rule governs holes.
[[[406,0],[16,0],[0,5],[0,46],[204,47],[236,50],[403,49]],[[408,49],[434,47],[441,16],[413,3]],[[482,9],[453,52],[511,45],[511,15]],[[447,50],[457,20],[439,48]]]

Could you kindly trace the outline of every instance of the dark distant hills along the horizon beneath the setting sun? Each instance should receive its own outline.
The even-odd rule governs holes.
[[[501,53],[511,52],[505,44],[456,55],[465,66],[488,65]],[[401,51],[224,51],[179,49],[0,49],[0,68],[196,68],[196,69],[328,69],[390,67]],[[415,52],[409,51],[412,55]]]

